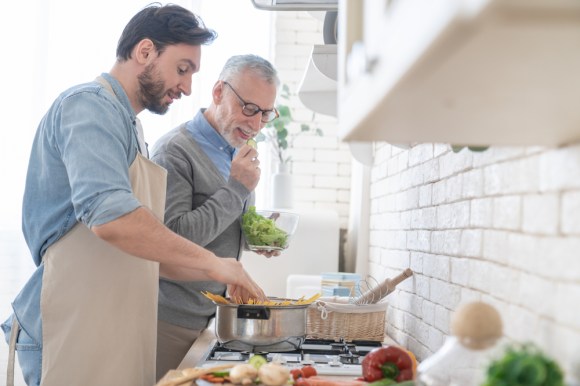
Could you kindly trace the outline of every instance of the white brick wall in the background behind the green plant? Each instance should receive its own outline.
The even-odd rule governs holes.
[[[282,83],[292,92],[298,86],[307,67],[314,44],[323,44],[322,22],[307,12],[276,12],[274,64]],[[289,105],[299,123],[319,127],[324,136],[302,135],[290,149],[294,180],[294,204],[300,208],[333,209],[339,214],[340,227],[348,225],[350,198],[350,163],[348,146],[337,136],[336,118],[313,114],[298,97]],[[298,129],[299,125],[294,127]]]

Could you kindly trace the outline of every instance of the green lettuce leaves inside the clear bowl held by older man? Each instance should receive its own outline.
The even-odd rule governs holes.
[[[242,216],[242,229],[249,245],[286,248],[288,234],[276,226],[273,219],[256,213],[250,206]]]

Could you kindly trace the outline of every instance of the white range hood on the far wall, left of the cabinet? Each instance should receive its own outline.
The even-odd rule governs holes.
[[[298,87],[298,98],[310,110],[336,117],[336,44],[315,45]]]

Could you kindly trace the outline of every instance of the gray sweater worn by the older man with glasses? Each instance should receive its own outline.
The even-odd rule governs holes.
[[[188,123],[191,130],[199,129],[196,124],[209,126],[200,114]],[[253,205],[253,192],[231,177],[226,181],[185,125],[161,137],[151,159],[168,172],[165,224],[219,257],[239,259],[244,245],[241,215]],[[226,286],[161,277],[159,320],[190,329],[205,328],[216,307],[201,291],[223,295]]]

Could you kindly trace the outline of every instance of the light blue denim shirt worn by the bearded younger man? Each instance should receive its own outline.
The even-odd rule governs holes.
[[[109,74],[101,76],[116,97],[96,81],[74,86],[54,101],[34,138],[22,229],[38,268],[12,303],[30,340],[27,347],[17,346],[19,350],[31,348],[30,343],[41,348],[46,249],[77,222],[90,228],[141,206],[129,180],[129,166],[138,152],[135,113],[120,83]],[[8,341],[10,325],[5,323],[2,329]]]

